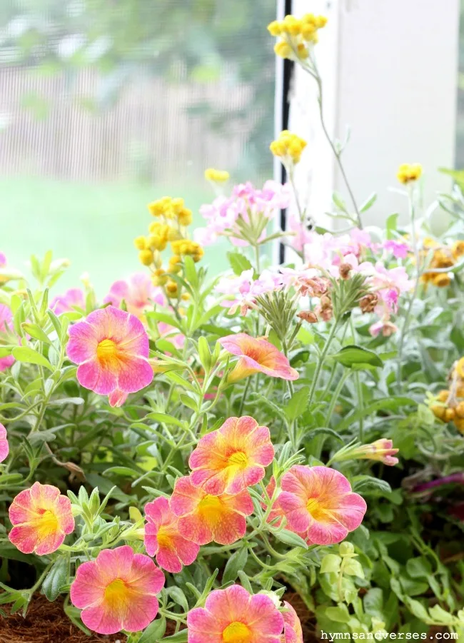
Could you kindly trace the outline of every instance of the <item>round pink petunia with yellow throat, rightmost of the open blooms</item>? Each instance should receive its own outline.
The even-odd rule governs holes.
[[[367,509],[346,477],[329,467],[294,465],[283,475],[281,486],[278,501],[288,525],[306,532],[314,545],[341,542],[359,527]]]

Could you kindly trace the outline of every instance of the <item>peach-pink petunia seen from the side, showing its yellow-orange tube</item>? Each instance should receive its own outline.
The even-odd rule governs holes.
[[[228,353],[239,359],[228,376],[228,382],[238,382],[253,373],[264,373],[271,378],[298,380],[298,370],[278,348],[264,338],[253,338],[246,333],[227,335],[218,340]]]

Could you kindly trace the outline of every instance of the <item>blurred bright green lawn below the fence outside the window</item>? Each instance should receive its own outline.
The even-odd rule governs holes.
[[[88,272],[97,293],[136,270],[147,270],[137,260],[133,238],[145,234],[152,221],[146,204],[165,194],[185,198],[195,216],[202,203],[211,202],[208,186],[145,186],[133,183],[92,185],[49,178],[0,179],[0,251],[9,264],[29,274],[32,253],[71,260],[67,273],[54,287],[58,293],[79,284]],[[194,226],[192,226],[193,228]],[[206,248],[203,265],[210,274],[226,267],[226,243]],[[169,253],[168,253],[169,255]]]

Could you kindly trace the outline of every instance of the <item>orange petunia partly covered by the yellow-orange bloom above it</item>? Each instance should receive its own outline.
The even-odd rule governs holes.
[[[209,495],[194,487],[189,477],[177,480],[171,496],[171,509],[179,517],[178,531],[181,535],[207,545],[232,545],[246,532],[246,516],[253,513],[253,501],[248,491],[236,495]]]

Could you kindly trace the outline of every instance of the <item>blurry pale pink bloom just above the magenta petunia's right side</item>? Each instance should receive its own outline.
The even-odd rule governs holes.
[[[111,303],[119,308],[123,300],[128,313],[139,319],[143,318],[147,308],[153,308],[153,303],[161,306],[165,303],[161,288],[155,288],[145,273],[136,273],[127,280],[115,281],[104,298],[104,303]]]

